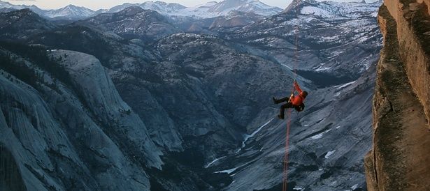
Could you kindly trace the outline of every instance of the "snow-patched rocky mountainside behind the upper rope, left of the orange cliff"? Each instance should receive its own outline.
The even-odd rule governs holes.
[[[346,83],[357,79],[369,68],[369,63],[378,59],[379,44],[375,42],[379,42],[380,32],[375,25],[375,10],[379,6],[379,3],[294,1],[283,13],[220,33],[224,38],[263,49],[264,52],[253,54],[270,56],[288,68],[298,69],[300,75],[314,82],[324,79],[319,86]],[[301,26],[298,31],[297,25]],[[296,33],[299,64],[294,61]]]

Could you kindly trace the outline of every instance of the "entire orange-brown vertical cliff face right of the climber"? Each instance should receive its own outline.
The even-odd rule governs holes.
[[[385,1],[378,14],[384,47],[373,97],[368,190],[428,190],[430,155],[429,1]]]

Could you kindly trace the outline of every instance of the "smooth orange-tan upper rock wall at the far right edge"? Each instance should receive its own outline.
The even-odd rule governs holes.
[[[399,56],[417,97],[430,117],[430,17],[429,0],[384,1],[396,22]]]

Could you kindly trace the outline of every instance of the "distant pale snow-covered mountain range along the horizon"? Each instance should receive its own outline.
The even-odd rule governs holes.
[[[116,13],[124,8],[138,6],[143,9],[155,10],[162,15],[182,16],[182,17],[217,17],[228,15],[231,11],[237,10],[245,13],[256,13],[259,15],[274,15],[282,11],[281,8],[268,6],[258,0],[224,0],[220,2],[211,1],[199,6],[185,7],[178,3],[165,3],[163,1],[146,1],[144,3],[124,3],[107,10],[90,10],[85,7],[69,5],[57,10],[42,10],[36,6],[16,6],[5,1],[0,1],[0,12],[8,10],[20,10],[29,8],[38,15],[54,20],[81,20],[98,15],[100,13]]]

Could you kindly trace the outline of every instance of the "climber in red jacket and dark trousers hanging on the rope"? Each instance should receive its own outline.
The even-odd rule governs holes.
[[[291,95],[285,98],[281,98],[277,100],[276,98],[272,98],[273,102],[275,104],[281,103],[281,102],[287,102],[284,105],[280,106],[280,114],[278,115],[279,119],[284,119],[284,112],[287,108],[294,108],[297,112],[303,111],[305,109],[305,104],[303,101],[305,100],[306,96],[308,95],[307,91],[301,91],[299,84],[297,84],[296,80],[294,80],[294,89],[299,92],[299,95],[294,95],[294,90],[291,93]]]

